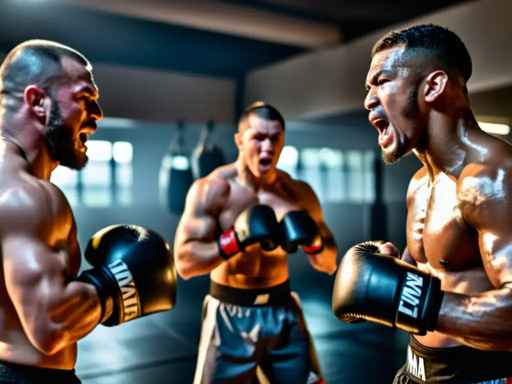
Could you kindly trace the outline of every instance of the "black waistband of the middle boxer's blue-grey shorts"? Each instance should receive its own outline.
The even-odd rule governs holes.
[[[290,282],[269,288],[242,289],[210,281],[210,295],[217,300],[241,307],[286,306],[292,303]]]

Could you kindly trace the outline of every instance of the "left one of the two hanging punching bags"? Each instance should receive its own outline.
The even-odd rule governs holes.
[[[185,199],[194,182],[188,156],[184,148],[184,124],[178,121],[178,133],[170,142],[162,159],[159,176],[160,203],[170,214],[181,215]]]

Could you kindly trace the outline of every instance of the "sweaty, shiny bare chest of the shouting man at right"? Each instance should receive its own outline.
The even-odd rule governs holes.
[[[416,191],[409,205],[407,246],[413,258],[456,271],[481,264],[476,231],[461,217],[456,181],[440,175]]]

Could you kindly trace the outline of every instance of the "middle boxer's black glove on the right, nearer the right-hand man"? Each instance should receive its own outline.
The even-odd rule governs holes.
[[[324,250],[318,225],[305,210],[289,211],[280,222],[281,247],[287,253],[295,253],[298,246],[307,254],[316,254]]]

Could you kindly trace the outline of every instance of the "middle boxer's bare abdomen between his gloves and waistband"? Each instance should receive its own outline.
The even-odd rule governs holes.
[[[210,279],[240,289],[274,287],[288,280],[286,253],[281,248],[263,252],[259,246],[250,247],[211,271]]]

